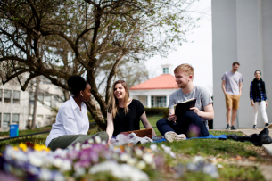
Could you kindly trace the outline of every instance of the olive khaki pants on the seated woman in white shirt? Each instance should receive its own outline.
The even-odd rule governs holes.
[[[106,132],[102,131],[99,133],[96,133],[95,135],[92,136],[87,136],[87,135],[66,135],[66,136],[59,136],[54,138],[50,144],[48,145],[48,148],[50,148],[52,151],[55,151],[57,148],[62,148],[65,149],[68,146],[75,144],[79,142],[80,144],[83,144],[87,140],[99,136],[102,140],[105,140],[108,142],[109,136]]]

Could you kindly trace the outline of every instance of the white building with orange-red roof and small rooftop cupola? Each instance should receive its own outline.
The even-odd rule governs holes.
[[[161,68],[161,76],[130,88],[129,95],[138,99],[144,107],[168,107],[169,96],[178,89],[175,77],[170,74],[173,72],[172,66],[166,64]]]

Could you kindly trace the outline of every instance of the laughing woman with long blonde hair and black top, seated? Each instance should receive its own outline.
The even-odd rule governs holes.
[[[124,80],[116,81],[111,90],[107,113],[107,130],[109,140],[112,135],[121,132],[140,130],[140,119],[144,128],[152,128],[148,122],[141,102],[129,98],[128,85]],[[152,129],[152,136],[156,136]]]

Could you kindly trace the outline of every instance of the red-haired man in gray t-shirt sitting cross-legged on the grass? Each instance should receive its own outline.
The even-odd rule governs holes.
[[[161,136],[164,136],[169,142],[182,140],[185,136],[209,136],[207,120],[214,118],[209,92],[201,86],[194,86],[194,68],[191,65],[181,64],[177,66],[174,73],[180,89],[170,95],[169,118],[157,122]],[[192,98],[196,98],[195,107],[177,119],[174,105]]]

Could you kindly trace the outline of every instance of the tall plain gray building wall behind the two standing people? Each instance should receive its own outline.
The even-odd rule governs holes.
[[[254,71],[260,70],[266,82],[268,120],[272,118],[272,1],[271,0],[212,0],[212,56],[214,128],[226,128],[225,96],[221,89],[224,72],[233,62],[240,62],[243,92],[236,127],[252,128],[250,84]],[[238,123],[238,125],[237,125]],[[258,127],[264,122],[258,118]]]

